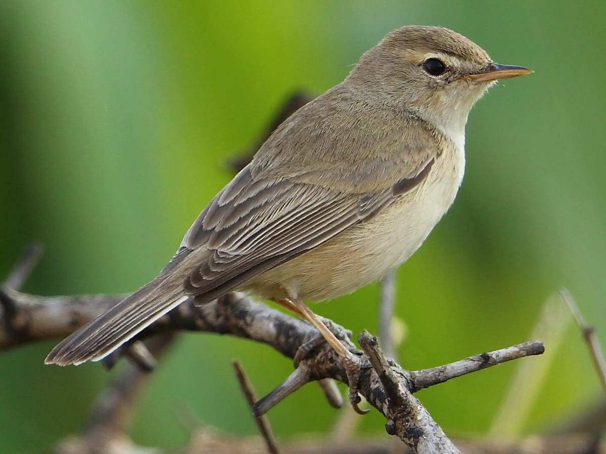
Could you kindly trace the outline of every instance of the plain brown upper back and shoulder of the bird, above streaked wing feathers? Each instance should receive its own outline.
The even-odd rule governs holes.
[[[287,178],[336,191],[382,191],[439,155],[435,128],[338,85],[285,120],[250,163],[251,179]]]

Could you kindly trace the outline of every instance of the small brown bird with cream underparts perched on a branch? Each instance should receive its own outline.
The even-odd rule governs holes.
[[[471,107],[497,79],[531,72],[494,63],[447,28],[392,31],[271,134],[158,277],[46,363],[101,360],[188,298],[251,291],[321,332],[344,360],[355,400],[351,352],[303,300],[352,292],[410,257],[461,184]]]

